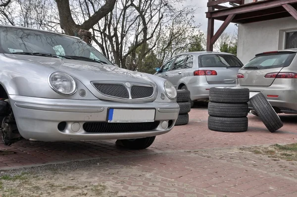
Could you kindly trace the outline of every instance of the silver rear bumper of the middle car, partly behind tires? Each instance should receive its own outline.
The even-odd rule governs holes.
[[[191,100],[208,100],[209,89],[213,87],[235,87],[236,84],[208,84],[192,83],[188,84],[187,88],[191,92]]]

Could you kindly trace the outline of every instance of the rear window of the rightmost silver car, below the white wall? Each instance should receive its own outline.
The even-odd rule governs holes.
[[[266,53],[255,56],[242,69],[268,69],[289,66],[296,52]]]

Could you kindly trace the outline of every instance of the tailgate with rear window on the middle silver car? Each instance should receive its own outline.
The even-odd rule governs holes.
[[[199,70],[214,70],[205,75],[208,84],[236,84],[238,70],[243,67],[243,63],[232,54],[203,54],[198,57]]]

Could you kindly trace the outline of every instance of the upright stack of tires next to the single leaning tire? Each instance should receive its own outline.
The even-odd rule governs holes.
[[[248,100],[247,88],[210,88],[208,129],[220,132],[247,131]]]

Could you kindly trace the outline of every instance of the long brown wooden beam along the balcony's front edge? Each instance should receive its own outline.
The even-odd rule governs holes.
[[[242,13],[247,13],[252,11],[278,7],[283,4],[294,3],[294,2],[297,2],[297,0],[261,0],[261,1],[258,1],[257,3],[248,3],[241,6],[230,7],[228,9],[206,12],[206,15],[209,18],[211,18],[211,17],[227,16],[230,14],[242,14]]]

